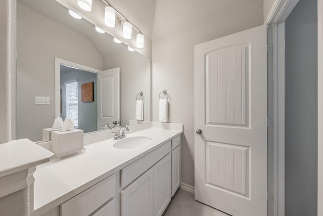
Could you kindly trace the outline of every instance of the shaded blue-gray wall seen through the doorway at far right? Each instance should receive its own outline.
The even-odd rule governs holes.
[[[286,216],[317,215],[317,1],[286,20]]]

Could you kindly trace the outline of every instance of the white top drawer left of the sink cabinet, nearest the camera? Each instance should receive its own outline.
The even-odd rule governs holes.
[[[61,205],[61,216],[88,216],[115,195],[116,175],[114,174],[64,202]]]

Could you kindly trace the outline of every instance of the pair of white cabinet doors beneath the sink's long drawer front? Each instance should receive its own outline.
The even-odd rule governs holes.
[[[171,201],[171,154],[121,191],[122,216],[160,216]]]

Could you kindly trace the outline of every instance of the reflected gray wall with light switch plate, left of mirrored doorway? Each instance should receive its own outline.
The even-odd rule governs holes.
[[[55,118],[55,57],[99,70],[103,59],[88,38],[20,4],[17,48],[17,136],[40,141]],[[35,105],[35,96],[50,105]]]

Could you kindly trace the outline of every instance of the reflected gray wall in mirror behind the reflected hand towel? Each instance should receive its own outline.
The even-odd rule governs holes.
[[[120,46],[122,52],[104,59],[104,70],[120,67],[121,125],[135,119],[136,96],[140,92],[144,94],[144,120],[150,121],[150,59]]]

